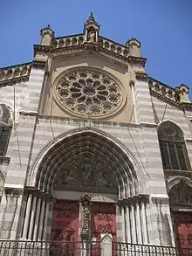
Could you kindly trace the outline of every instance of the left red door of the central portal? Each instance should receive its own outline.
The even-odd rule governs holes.
[[[79,232],[79,204],[57,200],[53,207],[51,241],[52,255],[75,255]]]

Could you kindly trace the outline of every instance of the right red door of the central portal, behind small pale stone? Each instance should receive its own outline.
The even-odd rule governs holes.
[[[92,254],[100,255],[101,234],[111,234],[113,242],[117,241],[116,236],[116,206],[115,204],[93,203],[92,204]],[[113,244],[113,255],[116,250]],[[116,253],[115,253],[116,254]]]

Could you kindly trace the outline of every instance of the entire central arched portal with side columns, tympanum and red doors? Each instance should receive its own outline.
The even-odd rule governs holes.
[[[148,242],[148,197],[142,195],[140,172],[130,152],[97,129],[75,129],[58,136],[42,150],[32,167],[22,237],[45,239],[50,219],[48,239],[77,240],[82,232],[84,236],[87,232],[89,239],[93,235],[98,239],[100,232],[107,232],[114,241],[118,237],[124,242]],[[95,199],[95,194],[102,198]],[[83,203],[81,197],[85,195],[91,198],[90,204]],[[103,199],[106,195],[110,200]],[[106,218],[99,218],[100,214]],[[62,225],[61,231],[58,222],[70,225]]]

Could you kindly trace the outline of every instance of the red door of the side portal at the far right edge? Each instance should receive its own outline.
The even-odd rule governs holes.
[[[181,255],[192,255],[192,214],[176,211],[173,212],[173,218],[176,243]]]

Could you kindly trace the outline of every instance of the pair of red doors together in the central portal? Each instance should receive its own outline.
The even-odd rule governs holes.
[[[63,252],[61,254],[70,255],[78,252],[79,249],[82,250],[83,221],[83,208],[80,202],[67,200],[55,202],[52,211],[51,241],[54,248],[58,248],[60,253]],[[116,205],[91,203],[88,228],[86,242],[90,245],[89,250],[92,255],[100,252],[102,237],[105,234],[110,235],[112,241],[116,242]],[[68,250],[67,253],[66,250]]]

